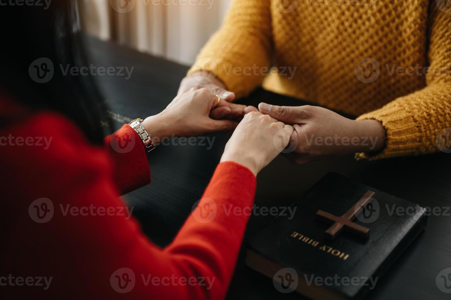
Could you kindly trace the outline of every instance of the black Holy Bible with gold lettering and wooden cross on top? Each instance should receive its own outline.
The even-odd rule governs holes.
[[[361,299],[427,223],[426,209],[329,173],[248,245],[281,292]]]

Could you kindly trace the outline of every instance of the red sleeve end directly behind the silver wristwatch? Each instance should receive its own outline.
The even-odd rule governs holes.
[[[113,180],[123,194],[150,183],[146,150],[132,127],[125,124],[105,138],[105,145],[114,161]]]

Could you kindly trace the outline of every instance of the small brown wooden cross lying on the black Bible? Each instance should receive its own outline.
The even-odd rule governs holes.
[[[363,227],[359,224],[353,223],[355,216],[360,214],[360,212],[368,205],[368,203],[373,200],[373,191],[367,191],[365,195],[357,201],[353,207],[351,207],[344,215],[341,217],[334,216],[333,214],[326,213],[321,209],[316,212],[317,219],[324,221],[326,223],[331,223],[332,226],[326,230],[326,238],[333,240],[340,234],[343,227],[346,231],[351,232],[360,237],[369,236],[369,228]]]

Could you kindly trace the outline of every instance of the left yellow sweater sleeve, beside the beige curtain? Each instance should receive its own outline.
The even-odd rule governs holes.
[[[270,5],[270,0],[233,0],[188,74],[214,73],[237,97],[261,85],[261,70],[269,67],[272,52]]]

